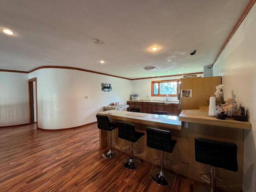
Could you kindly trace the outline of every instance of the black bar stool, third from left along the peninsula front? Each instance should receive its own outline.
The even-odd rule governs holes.
[[[146,128],[147,146],[161,150],[160,168],[155,168],[151,172],[151,178],[161,186],[170,186],[174,182],[174,177],[168,170],[164,170],[164,151],[172,153],[177,141],[172,140],[170,131],[155,128]]]

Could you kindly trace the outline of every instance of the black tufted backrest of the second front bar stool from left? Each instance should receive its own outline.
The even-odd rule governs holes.
[[[118,137],[131,142],[136,139],[134,124],[118,121]]]

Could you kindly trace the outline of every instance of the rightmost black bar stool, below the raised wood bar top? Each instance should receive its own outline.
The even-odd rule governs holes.
[[[196,161],[210,165],[210,174],[202,173],[200,178],[210,183],[210,192],[214,192],[216,186],[227,187],[227,184],[215,176],[215,167],[226,170],[238,171],[237,164],[237,146],[230,142],[220,142],[205,138],[195,138],[195,155]],[[202,177],[202,175],[210,176],[210,181]],[[216,184],[216,179],[224,185]],[[198,188],[197,191],[202,191]],[[204,190],[208,191],[208,190]]]

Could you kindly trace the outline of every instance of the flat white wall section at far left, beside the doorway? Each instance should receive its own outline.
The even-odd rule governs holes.
[[[28,74],[0,72],[0,126],[29,123]]]

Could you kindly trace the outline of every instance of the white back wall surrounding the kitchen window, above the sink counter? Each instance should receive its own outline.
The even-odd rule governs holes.
[[[202,68],[202,71],[204,68]],[[203,74],[197,74],[198,77],[202,76]],[[164,77],[164,78],[151,78],[151,79],[141,79],[141,80],[132,80],[132,92],[131,94],[138,93],[141,100],[146,100],[146,96],[148,98],[153,98],[156,101],[166,100],[166,97],[159,97],[159,96],[151,96],[151,81],[158,81],[158,80],[171,80],[171,79],[180,79],[183,76],[174,76],[174,77]],[[169,97],[169,101],[178,101],[177,97]]]

